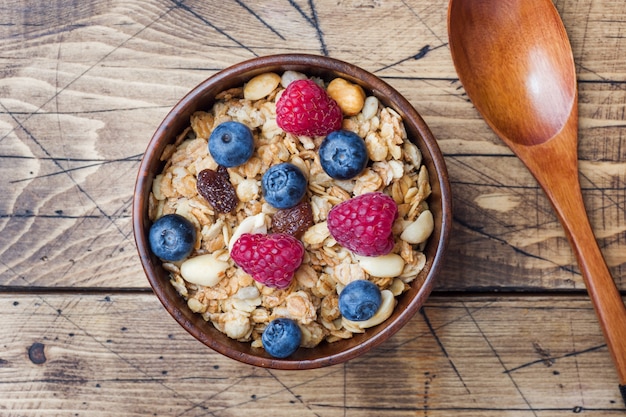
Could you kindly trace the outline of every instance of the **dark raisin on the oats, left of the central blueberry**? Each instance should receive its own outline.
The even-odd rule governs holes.
[[[198,193],[221,213],[230,213],[239,203],[235,187],[230,183],[230,176],[224,166],[218,166],[217,171],[200,171],[196,187]]]

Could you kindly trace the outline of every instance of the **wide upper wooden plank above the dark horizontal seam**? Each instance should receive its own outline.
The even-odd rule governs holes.
[[[581,81],[585,199],[626,289],[626,12],[620,2],[556,5]],[[309,52],[383,77],[438,138],[456,209],[440,288],[583,288],[546,199],[463,94],[446,6],[64,0],[44,10],[9,1],[0,26],[0,285],[146,288],[129,208],[138,160],[159,121],[227,65]]]

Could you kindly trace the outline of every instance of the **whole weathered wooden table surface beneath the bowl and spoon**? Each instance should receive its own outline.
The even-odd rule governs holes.
[[[626,8],[558,0],[580,90],[580,175],[626,290]],[[618,380],[546,198],[460,85],[446,0],[0,6],[0,415],[618,416]],[[454,195],[435,293],[343,365],[224,358],[165,312],[131,228],[139,160],[186,91],[254,56],[329,55],[392,84]]]

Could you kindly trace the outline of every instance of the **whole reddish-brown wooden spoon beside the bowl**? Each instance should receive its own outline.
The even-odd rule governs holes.
[[[551,0],[450,0],[452,59],[474,106],[533,174],[576,254],[626,402],[626,308],[578,179],[572,50]]]

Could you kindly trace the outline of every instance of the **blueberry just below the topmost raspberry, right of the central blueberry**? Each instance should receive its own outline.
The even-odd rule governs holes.
[[[320,145],[320,163],[332,178],[348,180],[359,175],[369,160],[365,142],[349,130],[336,130]]]

